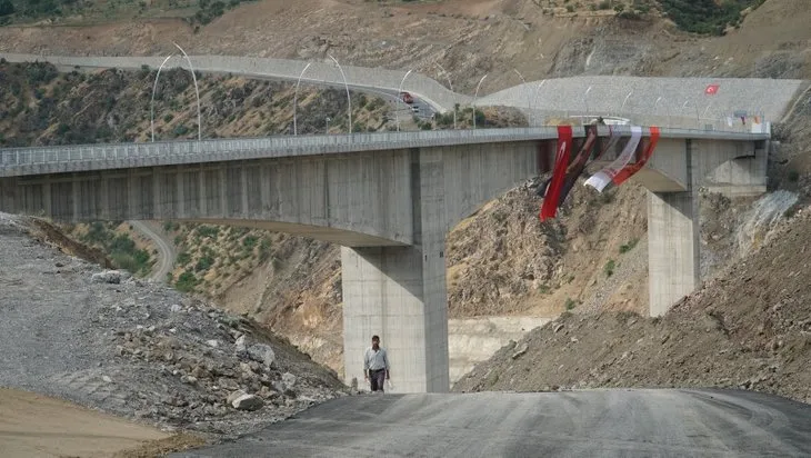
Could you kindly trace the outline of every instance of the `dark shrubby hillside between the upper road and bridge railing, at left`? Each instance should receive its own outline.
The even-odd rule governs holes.
[[[60,73],[48,63],[0,61],[0,146],[149,141],[156,70]],[[228,76],[199,77],[203,138],[292,133],[290,83]],[[390,104],[356,93],[354,131],[389,122]],[[347,131],[347,96],[302,86],[300,133]],[[331,118],[328,122],[327,118]],[[156,140],[197,138],[197,98],[191,74],[161,72],[154,101]]]

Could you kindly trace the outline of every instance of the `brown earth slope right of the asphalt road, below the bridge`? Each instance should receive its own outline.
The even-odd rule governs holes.
[[[662,318],[564,313],[454,389],[755,389],[811,402],[811,208]]]

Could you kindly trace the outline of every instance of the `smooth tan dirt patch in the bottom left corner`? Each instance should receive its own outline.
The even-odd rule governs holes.
[[[3,457],[109,457],[169,437],[63,400],[6,388],[0,388],[0,411]]]

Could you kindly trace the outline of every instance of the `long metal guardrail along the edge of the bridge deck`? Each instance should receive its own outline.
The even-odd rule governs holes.
[[[630,135],[630,126],[613,126],[612,129]],[[600,127],[599,132],[608,136],[608,127]],[[668,128],[662,129],[661,135],[664,138],[725,140],[769,138],[768,133]],[[583,136],[584,129],[575,129],[574,137]],[[0,177],[554,138],[558,138],[557,127],[539,127],[13,148],[0,150]]]

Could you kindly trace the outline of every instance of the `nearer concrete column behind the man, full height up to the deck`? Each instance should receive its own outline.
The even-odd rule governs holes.
[[[394,392],[443,392],[448,367],[444,170],[441,151],[411,153],[414,245],[342,248],[346,381],[363,382],[373,335],[387,348]]]

